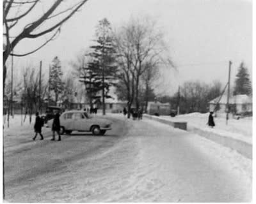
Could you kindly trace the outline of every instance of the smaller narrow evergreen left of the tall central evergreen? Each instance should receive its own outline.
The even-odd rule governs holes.
[[[55,94],[55,103],[57,104],[58,96],[63,91],[63,82],[61,80],[63,73],[61,71],[61,63],[58,57],[54,57],[51,64],[49,86],[50,91],[53,91]]]

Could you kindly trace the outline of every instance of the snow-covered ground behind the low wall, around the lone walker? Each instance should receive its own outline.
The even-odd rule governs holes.
[[[216,124],[214,128],[207,126],[209,113],[189,113],[185,115],[177,115],[176,117],[161,117],[172,121],[188,122],[188,129],[193,127],[200,128],[204,129],[204,131],[211,131],[218,135],[229,136],[252,144],[252,117],[236,120],[230,116],[228,124],[226,124],[225,115],[218,115],[218,117],[214,117],[214,122]]]

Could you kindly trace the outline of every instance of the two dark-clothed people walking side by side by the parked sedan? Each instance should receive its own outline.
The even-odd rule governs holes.
[[[36,112],[36,121],[34,125],[35,130],[35,136],[33,137],[33,140],[36,139],[37,134],[41,136],[40,140],[44,140],[44,136],[42,135],[42,127],[44,126],[44,120],[39,116],[39,113]],[[61,141],[60,136],[60,112],[56,112],[54,115],[54,119],[52,122],[52,141],[55,140],[55,132],[58,134],[59,138],[58,141]]]

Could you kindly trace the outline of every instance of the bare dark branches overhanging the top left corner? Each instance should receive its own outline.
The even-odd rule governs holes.
[[[51,6],[48,6],[47,10],[43,13],[38,13],[38,18],[35,19],[31,14],[35,13],[35,10],[40,4],[42,6],[42,4],[49,4],[48,2],[43,3],[40,0],[4,0],[4,80],[6,77],[6,61],[10,55],[22,57],[32,54],[44,47],[49,41],[54,40],[57,34],[60,33],[61,26],[76,13],[86,1],[88,0],[73,0],[72,3],[63,0],[51,1]],[[26,23],[24,24],[24,22]],[[45,35],[48,36],[48,39],[38,48],[22,54],[13,53],[13,49],[20,43],[20,41],[24,39],[40,38]]]

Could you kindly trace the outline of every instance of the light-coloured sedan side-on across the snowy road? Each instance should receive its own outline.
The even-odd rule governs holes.
[[[52,127],[52,122],[53,119],[47,122],[49,128]],[[111,129],[111,122],[107,119],[92,117],[84,111],[72,110],[60,115],[60,126],[61,135],[64,133],[69,135],[72,131],[88,131],[93,135],[104,135]]]

